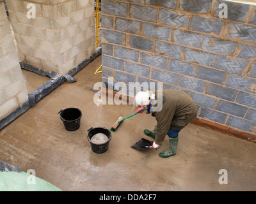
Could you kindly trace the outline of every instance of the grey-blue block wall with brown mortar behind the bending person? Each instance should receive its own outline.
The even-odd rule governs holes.
[[[195,123],[256,141],[255,10],[222,0],[102,0],[102,81],[181,89],[198,106]]]

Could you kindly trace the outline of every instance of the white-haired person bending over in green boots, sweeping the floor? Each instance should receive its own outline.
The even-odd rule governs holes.
[[[186,92],[172,89],[140,91],[135,96],[134,105],[141,106],[136,113],[147,108],[147,113],[151,112],[157,120],[157,126],[153,131],[144,130],[145,135],[154,139],[150,148],[159,149],[165,136],[168,135],[170,147],[159,156],[163,158],[174,156],[177,153],[180,130],[196,118],[196,105],[193,99]]]

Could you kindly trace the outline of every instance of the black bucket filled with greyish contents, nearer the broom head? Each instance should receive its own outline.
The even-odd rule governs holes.
[[[93,135],[96,135],[97,133],[102,133],[108,136],[108,141],[100,144],[92,143],[91,138],[93,137]],[[97,154],[102,154],[108,150],[109,141],[111,140],[111,131],[109,131],[108,128],[103,127],[90,128],[87,131],[87,138],[90,142],[93,152]]]

